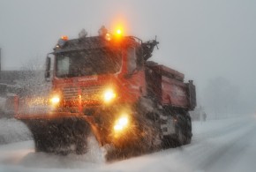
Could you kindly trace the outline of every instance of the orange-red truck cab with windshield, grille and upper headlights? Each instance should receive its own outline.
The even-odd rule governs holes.
[[[142,49],[133,37],[62,38],[52,54],[56,107],[79,111],[85,106],[131,103],[146,93]]]

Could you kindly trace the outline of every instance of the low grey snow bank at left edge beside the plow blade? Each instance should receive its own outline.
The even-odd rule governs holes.
[[[0,119],[0,145],[31,139],[31,133],[24,123],[16,119]]]

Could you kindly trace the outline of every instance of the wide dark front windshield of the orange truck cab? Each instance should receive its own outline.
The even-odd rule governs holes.
[[[56,55],[56,77],[91,76],[120,71],[121,49],[87,49]]]

